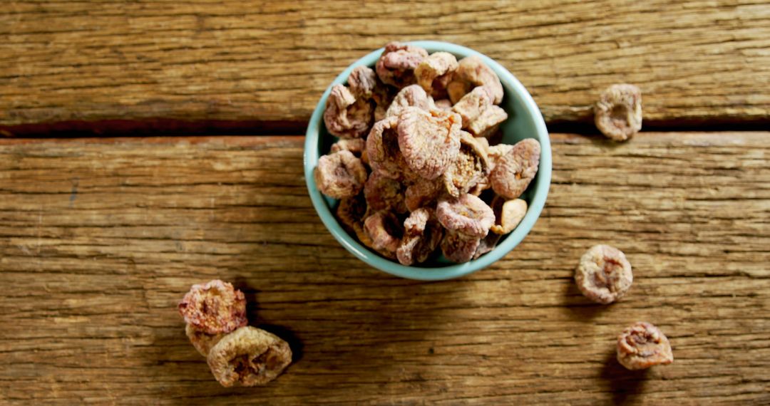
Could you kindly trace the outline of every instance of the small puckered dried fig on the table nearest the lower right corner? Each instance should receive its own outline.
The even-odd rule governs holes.
[[[671,343],[653,324],[637,321],[618,335],[618,362],[630,370],[674,362]]]

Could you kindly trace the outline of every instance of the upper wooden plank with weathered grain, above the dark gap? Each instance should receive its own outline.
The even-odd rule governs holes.
[[[343,68],[410,39],[497,59],[549,122],[588,122],[616,82],[641,86],[651,124],[770,117],[770,8],[752,0],[11,1],[0,10],[0,130],[306,121]]]

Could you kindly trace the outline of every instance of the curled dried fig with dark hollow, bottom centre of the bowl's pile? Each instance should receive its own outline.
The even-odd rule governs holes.
[[[419,208],[403,221],[403,238],[396,250],[401,265],[423,262],[436,251],[444,231],[433,209]]]

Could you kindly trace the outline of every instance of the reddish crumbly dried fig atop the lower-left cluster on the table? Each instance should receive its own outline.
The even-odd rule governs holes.
[[[179,302],[179,314],[206,334],[229,333],[246,325],[246,297],[232,284],[214,279],[192,285]]]

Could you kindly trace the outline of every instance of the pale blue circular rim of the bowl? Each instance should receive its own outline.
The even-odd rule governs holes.
[[[497,245],[492,251],[481,255],[477,259],[465,262],[464,264],[454,264],[435,268],[405,266],[396,261],[390,261],[387,258],[380,257],[380,255],[370,251],[369,248],[361,245],[355,238],[348,235],[340,226],[330,208],[327,207],[323,195],[318,191],[318,188],[316,188],[315,180],[313,179],[313,168],[315,168],[315,162],[320,158],[318,153],[318,142],[320,125],[323,123],[322,115],[326,108],[326,99],[329,97],[332,86],[344,84],[348,76],[350,76],[350,72],[353,71],[353,68],[360,65],[373,65],[374,62],[377,61],[377,58],[380,58],[380,55],[382,55],[384,48],[379,48],[370,52],[362,58],[359,58],[356,62],[350,64],[342,73],[340,73],[340,75],[337,75],[337,77],[334,78],[333,82],[326,88],[326,91],[323,92],[323,95],[313,111],[313,115],[310,117],[310,122],[308,123],[305,134],[303,165],[305,169],[307,190],[310,193],[310,200],[313,201],[313,207],[316,209],[316,213],[323,222],[323,225],[326,226],[326,229],[330,231],[331,235],[340,243],[340,245],[367,265],[390,275],[417,281],[442,281],[460,278],[475,271],[479,271],[480,269],[487,268],[487,266],[492,265],[504,255],[507,255],[508,252],[512,251],[519,245],[519,243],[521,243],[524,237],[526,237],[534,227],[534,224],[537,221],[537,218],[540,217],[541,211],[545,205],[548,189],[551,187],[551,140],[548,137],[548,131],[540,108],[537,107],[537,104],[535,104],[530,93],[527,92],[524,85],[522,85],[511,72],[508,72],[503,65],[495,62],[494,59],[474,51],[473,49],[450,42],[410,41],[405,43],[425,48],[428,52],[449,52],[454,55],[459,55],[462,58],[470,55],[477,55],[484,61],[484,63],[492,68],[495,73],[497,73],[497,76],[500,78],[500,82],[503,83],[504,87],[513,89],[513,94],[506,96],[517,98],[517,101],[520,102],[524,107],[524,110],[527,111],[527,114],[534,121],[534,126],[536,128],[537,134],[534,134],[534,138],[536,138],[541,145],[540,168],[538,168],[537,174],[537,176],[540,177],[540,180],[537,182],[537,187],[534,189],[533,197],[527,208],[527,214],[524,215],[524,218],[514,231],[511,231],[504,241]],[[310,162],[313,162],[313,165],[310,165]]]

